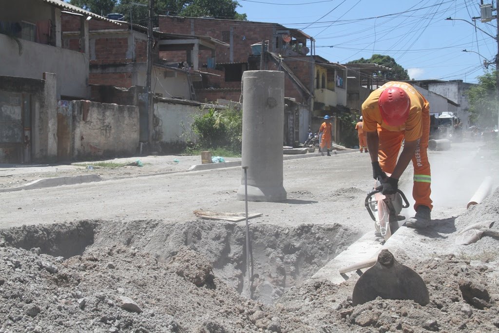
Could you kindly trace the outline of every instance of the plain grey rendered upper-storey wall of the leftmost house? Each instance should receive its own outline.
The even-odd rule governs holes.
[[[83,53],[0,34],[0,75],[41,79],[57,74],[56,95],[86,98],[88,59]],[[20,53],[20,54],[19,54]]]

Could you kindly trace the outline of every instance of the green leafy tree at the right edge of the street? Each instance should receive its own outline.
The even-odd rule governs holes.
[[[491,127],[498,121],[496,71],[478,77],[478,85],[465,92],[468,95],[470,121],[480,127]]]

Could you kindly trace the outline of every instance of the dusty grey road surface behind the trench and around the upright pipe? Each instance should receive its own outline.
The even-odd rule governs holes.
[[[453,145],[450,151],[430,152],[434,218],[464,211],[485,173],[498,174],[496,152],[470,143]],[[411,170],[400,181],[409,198]],[[336,222],[355,229],[372,228],[363,205],[373,184],[368,154],[286,160],[283,174],[288,200],[250,202],[250,212],[263,213],[252,223]],[[195,219],[193,211],[199,209],[244,212],[244,202],[236,200],[241,175],[240,167],[143,177],[130,173],[127,176],[131,178],[0,193],[0,227],[82,219],[188,221]]]

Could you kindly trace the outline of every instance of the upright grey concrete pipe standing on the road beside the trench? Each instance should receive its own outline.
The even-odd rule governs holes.
[[[284,136],[284,72],[247,70],[243,73],[243,156],[248,166],[248,200],[286,199],[282,186]],[[242,170],[238,200],[245,200]]]

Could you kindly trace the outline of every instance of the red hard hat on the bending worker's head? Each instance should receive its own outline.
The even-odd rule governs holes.
[[[388,87],[379,95],[378,105],[383,121],[390,126],[399,126],[409,117],[411,99],[404,89]]]

